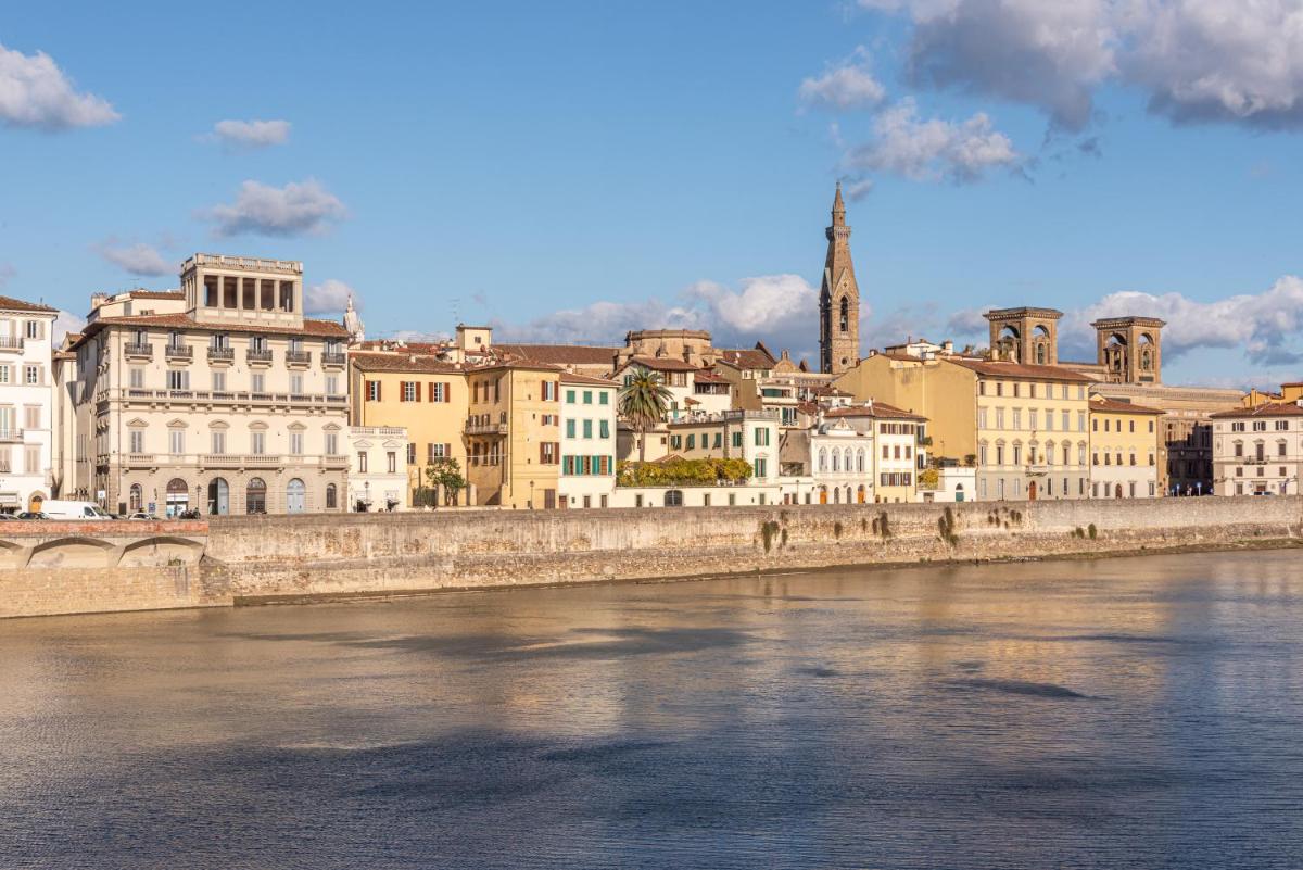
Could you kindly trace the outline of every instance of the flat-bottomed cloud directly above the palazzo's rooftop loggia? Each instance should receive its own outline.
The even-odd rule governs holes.
[[[232,204],[215,206],[208,216],[219,236],[261,233],[298,236],[324,232],[330,221],[347,215],[344,203],[314,178],[272,188],[245,181]]]

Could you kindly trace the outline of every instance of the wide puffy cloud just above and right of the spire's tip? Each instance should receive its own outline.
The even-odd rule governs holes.
[[[847,155],[855,169],[956,182],[976,181],[993,168],[1016,168],[1022,160],[1012,141],[994,130],[985,113],[959,124],[920,119],[908,96],[883,109],[873,120],[873,139]]]

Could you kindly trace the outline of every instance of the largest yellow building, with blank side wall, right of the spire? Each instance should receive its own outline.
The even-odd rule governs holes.
[[[925,417],[934,457],[976,466],[979,500],[1087,498],[1089,383],[1062,366],[896,353],[835,382]]]

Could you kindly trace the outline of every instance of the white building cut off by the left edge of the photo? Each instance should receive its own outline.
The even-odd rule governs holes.
[[[53,483],[56,309],[0,296],[0,512],[40,511]]]

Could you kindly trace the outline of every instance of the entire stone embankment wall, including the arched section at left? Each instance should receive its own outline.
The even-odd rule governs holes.
[[[1300,539],[1299,498],[12,522],[0,616]]]

